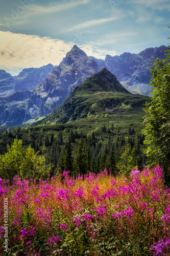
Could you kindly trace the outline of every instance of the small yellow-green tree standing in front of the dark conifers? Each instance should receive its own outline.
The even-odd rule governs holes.
[[[131,150],[131,145],[127,144],[124,154],[120,157],[120,161],[116,165],[120,173],[124,174],[126,177],[130,175],[131,170],[136,165],[135,152],[135,148]]]

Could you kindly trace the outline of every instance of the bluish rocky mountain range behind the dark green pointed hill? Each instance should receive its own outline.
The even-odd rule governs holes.
[[[150,63],[157,57],[163,59],[164,50],[167,47],[161,46],[139,54],[106,55],[105,60],[101,60],[88,57],[75,45],[59,66],[49,64],[24,69],[15,77],[0,70],[0,125],[31,123],[47,116],[74,88],[103,68],[114,74],[130,92],[148,95],[152,91],[148,86]]]

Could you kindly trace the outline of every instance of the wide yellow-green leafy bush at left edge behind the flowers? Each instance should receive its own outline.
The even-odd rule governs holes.
[[[12,182],[13,177],[45,178],[51,167],[45,168],[45,157],[38,156],[29,146],[23,150],[22,141],[15,139],[11,146],[7,145],[8,152],[0,155],[0,176]]]

